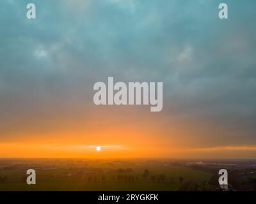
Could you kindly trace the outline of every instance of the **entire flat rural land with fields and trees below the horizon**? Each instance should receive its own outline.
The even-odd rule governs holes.
[[[175,159],[1,159],[0,191],[230,191],[256,190],[256,161]],[[26,170],[36,170],[36,185]]]

